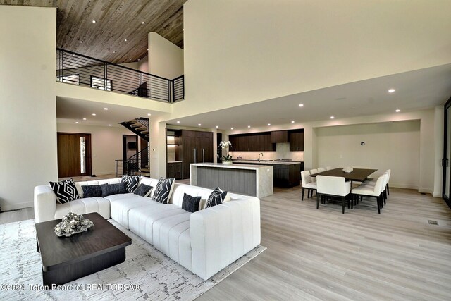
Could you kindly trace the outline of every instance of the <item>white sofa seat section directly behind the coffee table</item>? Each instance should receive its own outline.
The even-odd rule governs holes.
[[[87,214],[91,212],[98,212],[105,219],[110,218],[110,202],[103,197],[85,197],[83,199],[76,199],[75,201],[66,204],[58,204],[56,206],[54,219],[62,219],[63,216],[73,212],[75,214]]]

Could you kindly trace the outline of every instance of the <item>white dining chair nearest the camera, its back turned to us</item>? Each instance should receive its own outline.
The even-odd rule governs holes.
[[[344,214],[346,197],[351,192],[351,183],[343,177],[316,176],[316,178],[316,209],[319,208],[320,197],[339,197]]]

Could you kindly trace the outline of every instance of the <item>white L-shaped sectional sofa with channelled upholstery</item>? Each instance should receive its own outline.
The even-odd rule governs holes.
[[[120,183],[121,178],[75,183],[101,185]],[[158,180],[141,178],[155,188]],[[229,193],[230,201],[190,213],[182,209],[183,194],[208,199],[212,190],[174,183],[169,204],[132,193],[77,199],[58,204],[49,185],[35,187],[35,220],[61,219],[68,212],[98,212],[114,219],[168,257],[204,280],[260,244],[260,200]],[[202,202],[202,203],[203,203]]]

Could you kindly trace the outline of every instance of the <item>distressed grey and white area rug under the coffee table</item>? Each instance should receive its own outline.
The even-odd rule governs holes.
[[[35,220],[0,225],[0,300],[194,300],[266,250],[260,245],[204,281],[110,221],[132,238],[125,262],[61,285],[58,290],[42,289]]]

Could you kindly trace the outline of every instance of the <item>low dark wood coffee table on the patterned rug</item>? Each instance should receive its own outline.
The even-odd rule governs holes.
[[[132,239],[100,214],[83,216],[94,226],[68,238],[58,237],[54,232],[61,219],[36,223],[44,287],[68,283],[125,261],[125,247],[131,245]]]

